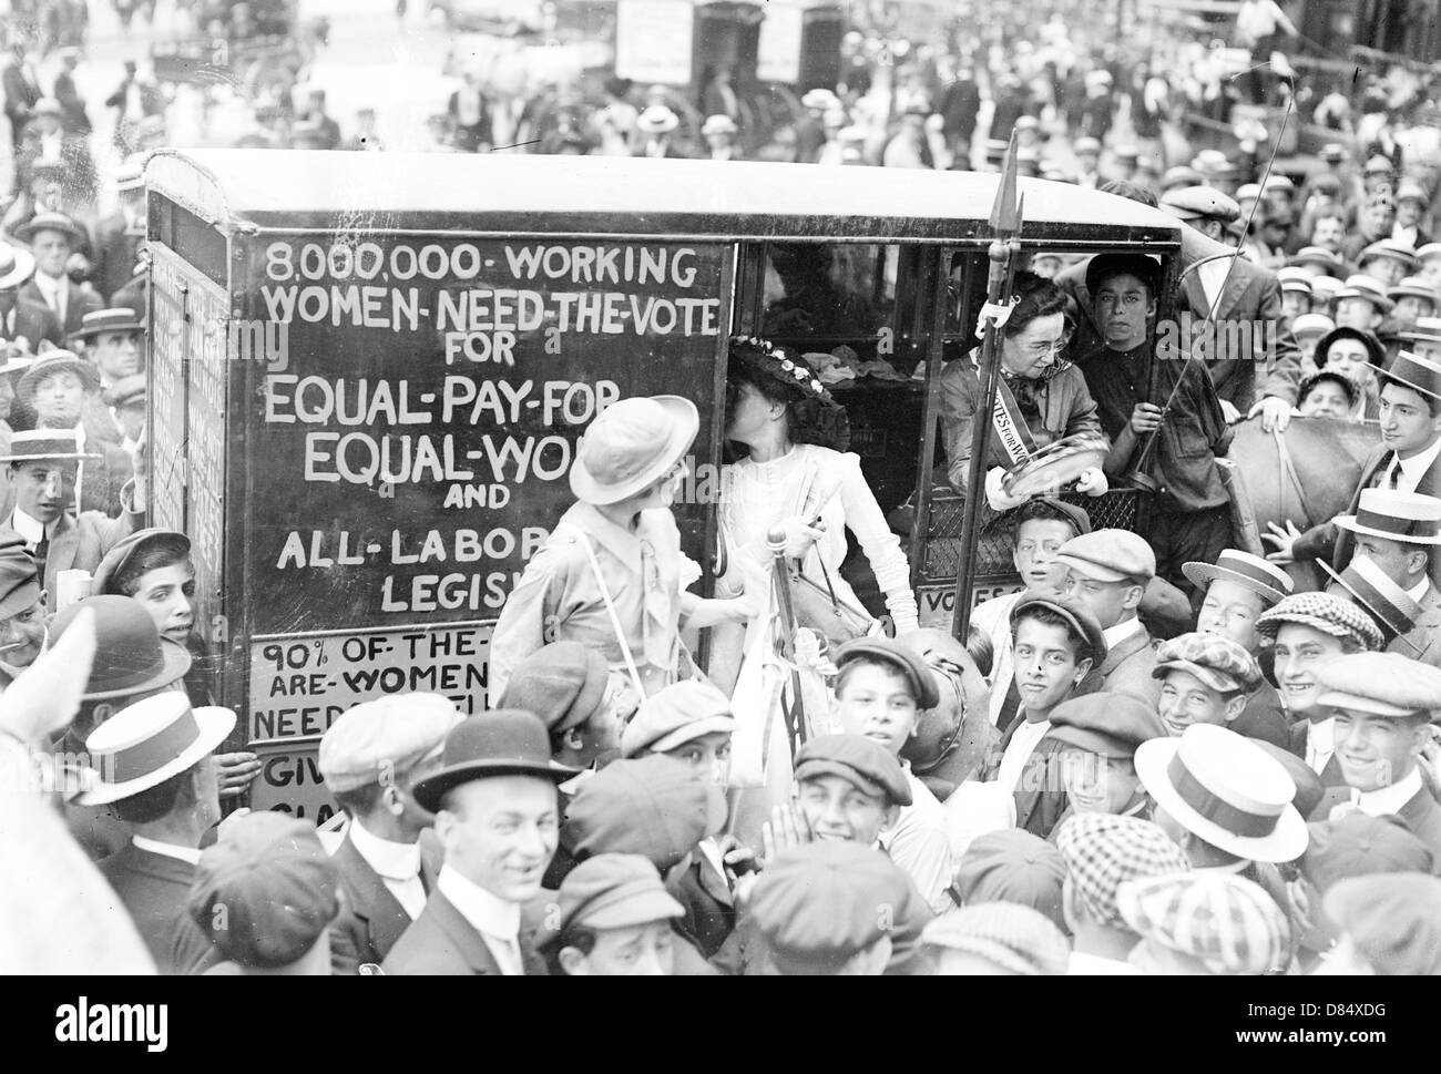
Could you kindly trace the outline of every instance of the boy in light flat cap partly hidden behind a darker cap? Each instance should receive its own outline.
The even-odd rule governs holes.
[[[673,682],[641,702],[635,718],[621,735],[623,757],[663,754],[710,780],[725,794],[731,778],[731,699],[716,686],[697,679]],[[680,931],[708,959],[735,928],[735,876],[749,856],[735,839],[706,836],[686,871],[672,882],[684,905]]]

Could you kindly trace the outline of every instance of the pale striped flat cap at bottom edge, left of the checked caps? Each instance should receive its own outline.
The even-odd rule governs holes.
[[[938,977],[1062,977],[1065,934],[1030,907],[980,902],[925,927],[921,941]]]

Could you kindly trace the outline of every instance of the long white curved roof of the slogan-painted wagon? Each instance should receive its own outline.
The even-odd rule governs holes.
[[[976,241],[999,174],[705,160],[164,150],[146,182],[223,229]],[[1163,212],[1022,179],[1027,242],[1174,245]]]

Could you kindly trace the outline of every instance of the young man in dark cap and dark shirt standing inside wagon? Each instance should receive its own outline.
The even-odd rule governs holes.
[[[1225,454],[1232,434],[1206,363],[1170,353],[1164,339],[1151,340],[1159,275],[1159,265],[1138,254],[1091,259],[1087,287],[1102,343],[1082,368],[1111,437],[1105,471],[1112,480],[1124,479],[1141,444],[1156,437],[1146,470],[1160,493],[1146,536],[1156,574],[1189,591],[1182,564],[1210,562],[1231,539],[1229,496],[1216,456]]]

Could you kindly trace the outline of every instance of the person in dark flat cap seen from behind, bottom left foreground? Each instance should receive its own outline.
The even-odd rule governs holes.
[[[304,820],[235,816],[200,853],[186,910],[226,959],[206,976],[323,977],[340,874]]]

